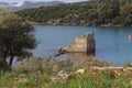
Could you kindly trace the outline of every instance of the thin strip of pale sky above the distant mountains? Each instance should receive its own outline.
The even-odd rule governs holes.
[[[79,2],[79,1],[87,1],[87,0],[0,0],[0,2],[10,2],[10,3],[12,3],[12,2],[20,2],[20,1],[34,1],[34,2],[36,2],[36,1],[45,1],[45,2],[47,2],[47,1]]]

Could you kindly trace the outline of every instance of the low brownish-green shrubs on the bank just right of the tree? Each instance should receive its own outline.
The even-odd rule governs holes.
[[[26,72],[59,72],[62,69],[70,69],[73,67],[73,63],[69,59],[66,61],[57,61],[56,58],[40,58],[40,57],[31,57],[29,59],[24,59],[18,65],[14,66],[15,70],[26,70]]]

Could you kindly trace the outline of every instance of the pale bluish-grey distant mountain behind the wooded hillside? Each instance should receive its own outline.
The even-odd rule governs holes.
[[[24,10],[24,9],[30,9],[30,8],[57,6],[57,4],[65,4],[65,2],[62,2],[62,1],[51,1],[51,2],[23,1],[23,2],[14,2],[14,3],[0,2],[0,8],[4,8],[11,11],[19,11],[19,10]]]

